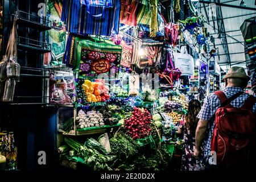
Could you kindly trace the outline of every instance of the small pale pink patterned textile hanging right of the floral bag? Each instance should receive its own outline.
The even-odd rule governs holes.
[[[126,44],[125,41],[122,40],[121,42],[122,46],[122,59],[121,59],[121,66],[122,67],[131,67],[131,56],[133,53],[133,46],[129,46]]]

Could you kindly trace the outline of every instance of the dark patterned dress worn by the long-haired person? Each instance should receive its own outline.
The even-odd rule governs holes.
[[[196,146],[196,138],[189,135],[189,131],[185,129],[183,125],[181,127],[184,133],[184,148],[181,157],[181,171],[201,171],[204,170],[204,164],[200,160],[196,160],[193,156],[193,152]],[[204,146],[204,145],[202,145]],[[204,154],[204,148],[201,147],[202,154]]]

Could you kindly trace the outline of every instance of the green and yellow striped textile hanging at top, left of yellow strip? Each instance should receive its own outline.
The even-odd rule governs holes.
[[[138,10],[137,23],[150,25],[150,2],[142,0],[141,9]]]

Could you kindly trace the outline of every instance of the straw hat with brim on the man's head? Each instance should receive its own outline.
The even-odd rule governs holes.
[[[229,71],[223,77],[223,80],[225,80],[226,78],[241,78],[245,79],[246,81],[250,80],[250,77],[246,75],[245,69],[243,69],[242,67],[229,68]]]

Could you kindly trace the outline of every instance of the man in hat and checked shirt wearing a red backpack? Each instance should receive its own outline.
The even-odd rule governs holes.
[[[256,166],[256,97],[243,92],[250,77],[242,67],[232,67],[223,77],[226,88],[210,94],[197,115],[196,147],[208,134],[204,159],[211,169],[237,169]],[[217,164],[217,165],[216,165]]]

